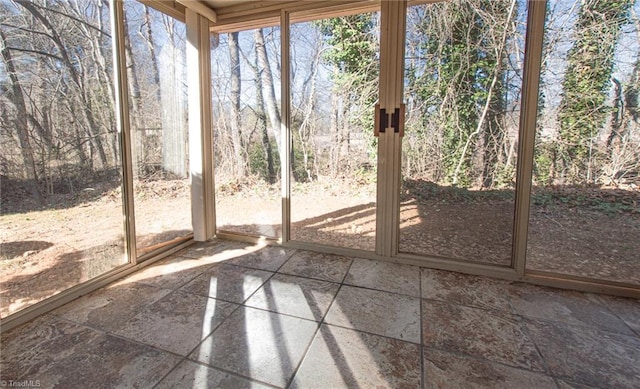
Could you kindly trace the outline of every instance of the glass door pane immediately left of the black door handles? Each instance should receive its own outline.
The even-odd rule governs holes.
[[[379,13],[291,25],[291,239],[373,251]]]

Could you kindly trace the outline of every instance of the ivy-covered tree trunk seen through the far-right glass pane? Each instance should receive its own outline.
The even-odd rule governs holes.
[[[595,141],[605,123],[614,54],[621,26],[632,0],[582,1],[575,41],[567,57],[556,156],[561,180],[585,183],[594,179]]]

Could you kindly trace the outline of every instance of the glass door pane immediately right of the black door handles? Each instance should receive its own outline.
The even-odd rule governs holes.
[[[526,2],[408,7],[401,252],[509,266]]]

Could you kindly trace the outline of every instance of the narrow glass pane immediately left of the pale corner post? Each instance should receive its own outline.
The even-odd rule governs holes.
[[[124,2],[138,256],[191,234],[186,26]]]

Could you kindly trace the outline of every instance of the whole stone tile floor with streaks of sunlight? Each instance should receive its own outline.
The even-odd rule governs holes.
[[[7,387],[640,387],[637,300],[228,241],[1,341]]]

